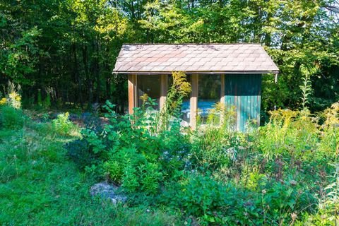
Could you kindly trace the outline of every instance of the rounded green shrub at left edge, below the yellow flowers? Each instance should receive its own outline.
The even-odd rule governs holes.
[[[0,106],[0,125],[4,129],[20,129],[24,122],[25,117],[21,109],[9,105]]]

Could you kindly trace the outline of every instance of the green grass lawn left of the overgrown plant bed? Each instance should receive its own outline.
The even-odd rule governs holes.
[[[113,206],[89,194],[90,181],[66,156],[52,124],[0,129],[0,225],[180,225],[177,215]]]

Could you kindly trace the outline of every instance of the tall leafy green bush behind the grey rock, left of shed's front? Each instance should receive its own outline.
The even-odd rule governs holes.
[[[174,128],[170,131],[160,131],[156,123],[158,115],[148,113],[151,107],[144,110],[135,109],[133,115],[123,117],[118,117],[112,107],[114,105],[107,102],[107,117],[112,124],[97,133],[90,129],[85,130],[83,137],[90,144],[93,153],[100,155],[105,176],[121,184],[125,191],[157,193],[163,175],[160,170],[165,169],[167,177],[172,170],[165,162],[170,159],[164,156],[164,153],[169,155],[169,152],[166,152],[169,146],[173,148],[171,154],[181,148],[181,141],[185,136]],[[178,135],[176,139],[170,137],[173,133]],[[181,162],[181,165],[184,165],[184,162]]]

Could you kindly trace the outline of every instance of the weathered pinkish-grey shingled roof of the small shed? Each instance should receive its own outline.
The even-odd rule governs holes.
[[[260,44],[124,44],[113,73],[278,73]]]

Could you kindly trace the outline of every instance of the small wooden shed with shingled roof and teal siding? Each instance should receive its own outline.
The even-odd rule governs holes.
[[[147,93],[161,108],[173,71],[184,72],[192,86],[182,119],[196,126],[216,102],[233,105],[237,130],[260,121],[261,76],[279,69],[261,44],[124,44],[113,73],[129,77],[129,112]]]

